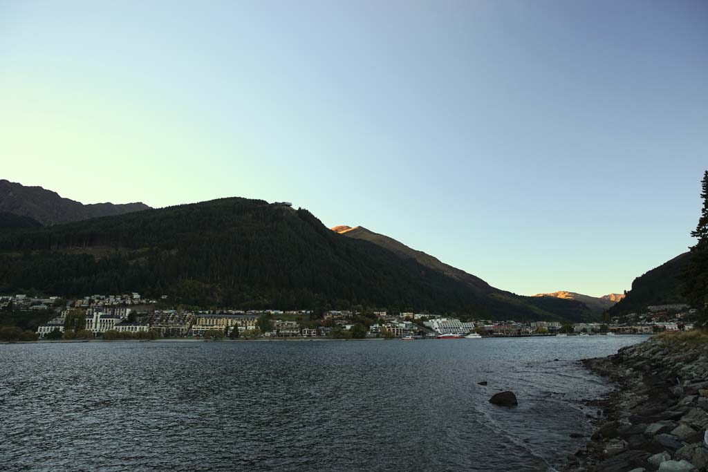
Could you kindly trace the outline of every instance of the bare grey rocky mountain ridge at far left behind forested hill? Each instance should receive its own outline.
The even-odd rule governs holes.
[[[149,208],[141,202],[84,205],[41,187],[25,187],[19,183],[0,180],[0,212],[29,217],[45,226],[139,212]]]

